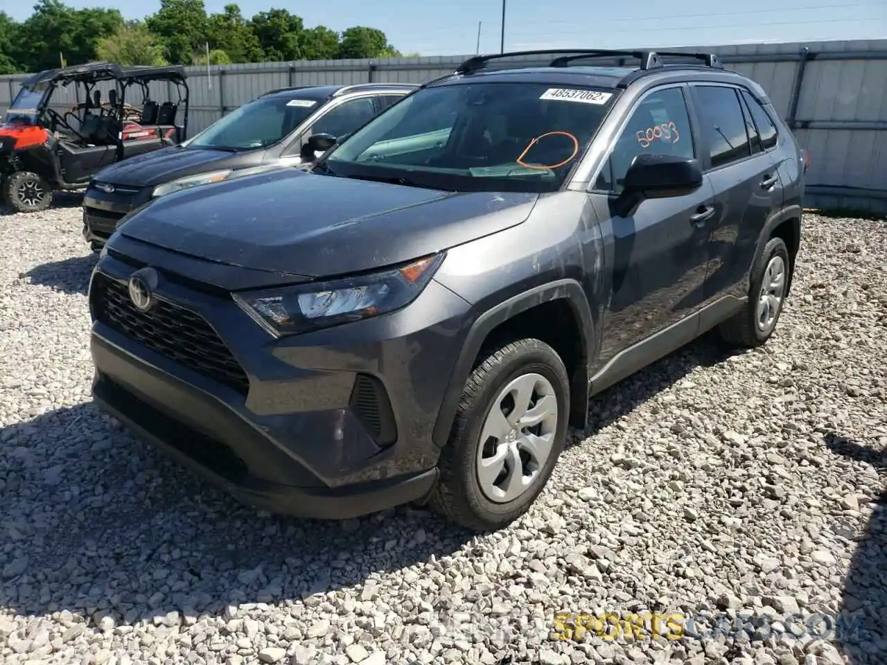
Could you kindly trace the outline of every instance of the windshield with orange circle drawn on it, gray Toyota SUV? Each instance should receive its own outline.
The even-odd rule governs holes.
[[[417,90],[317,172],[451,191],[553,192],[615,98],[612,90],[525,82]]]

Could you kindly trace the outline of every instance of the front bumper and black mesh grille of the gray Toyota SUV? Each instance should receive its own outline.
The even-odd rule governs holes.
[[[109,254],[90,282],[100,407],[273,512],[341,519],[428,494],[466,301],[432,281],[385,317],[275,339],[230,294],[172,274],[138,311],[137,267]]]

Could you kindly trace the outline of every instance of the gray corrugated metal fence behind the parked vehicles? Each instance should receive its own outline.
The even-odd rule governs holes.
[[[887,40],[669,50],[715,52],[727,67],[764,86],[812,154],[808,205],[887,213]],[[451,72],[468,57],[303,60],[212,66],[209,71],[189,67],[188,134],[193,136],[266,90],[289,85],[420,83]],[[5,111],[23,78],[0,76],[0,109]],[[154,98],[173,93],[172,88],[158,87],[165,85],[153,84]],[[64,90],[63,95],[57,93],[53,106],[67,109],[76,101],[74,90]]]

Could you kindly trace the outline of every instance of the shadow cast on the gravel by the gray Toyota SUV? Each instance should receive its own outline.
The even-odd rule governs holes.
[[[593,401],[589,434],[724,357],[699,340],[609,388]],[[229,605],[307,599],[446,557],[472,536],[406,507],[345,522],[255,512],[91,403],[0,430],[0,529],[0,606],[67,610],[90,625],[106,614],[118,624],[165,621],[173,611],[224,616]]]

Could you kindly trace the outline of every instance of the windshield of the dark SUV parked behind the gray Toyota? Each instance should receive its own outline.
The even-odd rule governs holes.
[[[319,99],[254,99],[204,129],[188,143],[194,148],[253,150],[286,137],[320,105]]]

